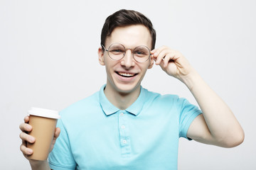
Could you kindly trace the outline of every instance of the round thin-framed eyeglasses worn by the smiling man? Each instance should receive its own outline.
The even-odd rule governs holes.
[[[148,47],[144,45],[140,45],[138,47],[135,47],[133,50],[131,48],[125,48],[124,45],[120,43],[114,43],[110,45],[108,50],[102,45],[104,50],[107,51],[107,54],[112,58],[112,60],[121,60],[127,50],[132,51],[132,57],[134,57],[134,60],[137,62],[146,62],[149,60],[150,57],[150,50]]]

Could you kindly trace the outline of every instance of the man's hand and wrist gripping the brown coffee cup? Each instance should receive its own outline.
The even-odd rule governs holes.
[[[22,144],[21,144],[21,152],[23,153],[24,157],[26,157],[26,159],[28,159],[29,163],[31,164],[31,169],[36,169],[36,170],[46,170],[46,169],[50,169],[50,166],[48,164],[48,161],[37,161],[37,160],[33,160],[30,159],[28,157],[28,155],[33,154],[33,150],[26,147],[26,143],[27,142],[35,142],[36,139],[35,137],[28,135],[27,132],[30,132],[32,130],[31,125],[28,125],[28,121],[29,121],[29,117],[26,116],[24,118],[24,122],[25,123],[21,123],[21,125],[19,126],[19,128],[21,129],[21,134],[20,134],[20,138],[22,140]],[[55,129],[55,134],[53,137],[53,142],[50,148],[50,151],[53,149],[53,146],[55,144],[56,139],[58,138],[58,136],[60,135],[60,128],[56,128]]]

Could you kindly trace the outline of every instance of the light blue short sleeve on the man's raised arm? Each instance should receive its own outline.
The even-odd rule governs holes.
[[[179,98],[178,103],[180,106],[180,120],[179,120],[179,134],[180,137],[187,137],[188,128],[193,122],[193,120],[202,113],[202,111],[197,107],[192,105],[186,100],[186,98]]]

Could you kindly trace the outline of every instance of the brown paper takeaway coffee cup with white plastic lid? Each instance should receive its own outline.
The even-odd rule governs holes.
[[[51,111],[44,108],[31,108],[28,111],[29,125],[32,126],[29,135],[36,138],[36,141],[27,147],[33,149],[31,159],[46,160],[50,151],[50,145],[53,142],[53,136],[57,120],[60,118],[58,111]]]

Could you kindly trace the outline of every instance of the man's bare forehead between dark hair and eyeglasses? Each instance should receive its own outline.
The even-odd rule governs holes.
[[[111,35],[106,39],[106,46],[119,42],[125,47],[137,47],[146,45],[151,48],[151,35],[149,29],[143,25],[132,25],[114,28]]]

